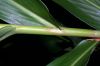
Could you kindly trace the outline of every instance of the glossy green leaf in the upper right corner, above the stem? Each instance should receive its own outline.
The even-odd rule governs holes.
[[[100,0],[53,0],[95,29],[100,30]]]

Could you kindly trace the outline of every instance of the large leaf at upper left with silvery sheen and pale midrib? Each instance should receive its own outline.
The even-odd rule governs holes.
[[[40,0],[0,0],[0,19],[17,25],[56,26]]]

